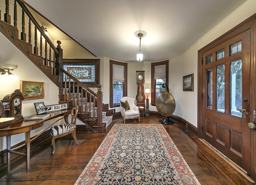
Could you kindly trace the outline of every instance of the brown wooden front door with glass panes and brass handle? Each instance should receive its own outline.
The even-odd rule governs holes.
[[[202,138],[250,174],[249,30],[202,55]]]

